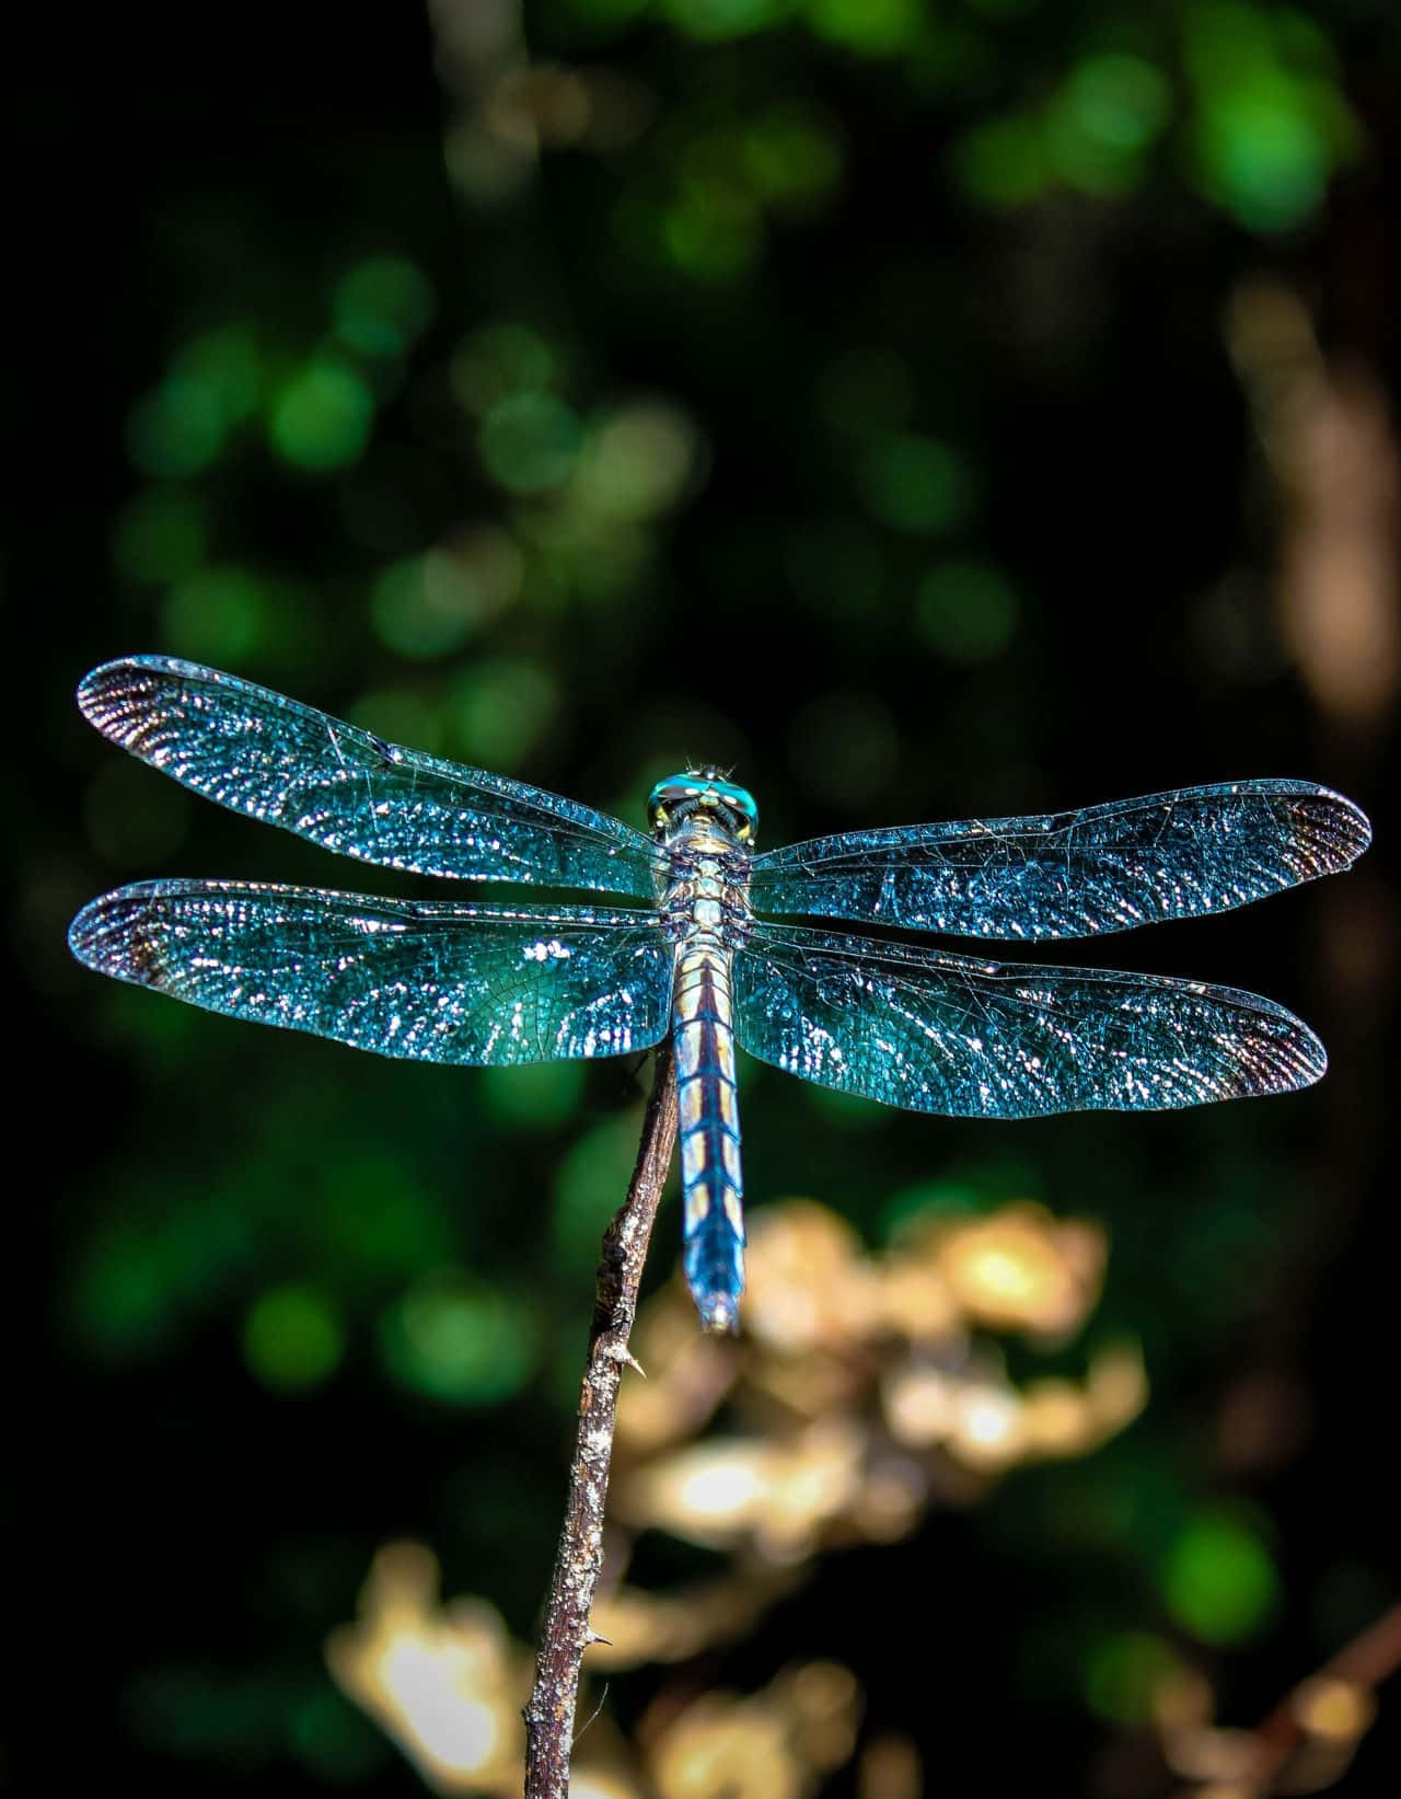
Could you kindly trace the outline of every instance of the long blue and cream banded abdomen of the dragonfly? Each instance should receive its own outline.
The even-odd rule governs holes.
[[[685,1277],[705,1329],[732,1331],[745,1290],[745,1182],[739,1169],[730,952],[723,944],[692,943],[678,953],[673,1034]]]

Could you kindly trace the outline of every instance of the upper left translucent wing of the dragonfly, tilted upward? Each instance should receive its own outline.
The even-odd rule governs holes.
[[[174,657],[128,657],[77,689],[113,743],[234,811],[361,862],[464,882],[653,900],[656,849],[606,813],[385,743]]]

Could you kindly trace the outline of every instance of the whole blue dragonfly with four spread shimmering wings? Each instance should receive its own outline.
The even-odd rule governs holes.
[[[1338,873],[1370,842],[1351,801],[1307,781],[755,855],[754,797],[714,768],[660,781],[644,835],[173,657],[108,662],[77,703],[196,793],[360,862],[624,901],[138,882],[86,905],[68,943],[119,980],[417,1061],[622,1056],[669,1031],[683,1263],[707,1329],[736,1328],[745,1286],[736,1043],[838,1092],[987,1119],[1289,1092],[1327,1065],[1306,1024],[1234,988],[775,921],[1041,943],[1225,912]]]

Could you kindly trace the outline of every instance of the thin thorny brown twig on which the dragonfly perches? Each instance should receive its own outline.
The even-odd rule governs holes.
[[[545,1601],[536,1684],[525,1707],[525,1799],[565,1799],[568,1792],[579,1662],[593,1641],[588,1612],[602,1567],[602,1508],[608,1497],[619,1383],[624,1365],[637,1367],[628,1335],[637,1313],[637,1288],[647,1259],[656,1202],[662,1198],[674,1146],[676,1079],[671,1042],[664,1040],[656,1049],[628,1198],[602,1236],[568,1506]]]

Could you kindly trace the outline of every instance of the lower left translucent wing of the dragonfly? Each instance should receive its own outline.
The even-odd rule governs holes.
[[[414,1061],[620,1056],[671,1016],[673,948],[646,912],[140,882],[86,905],[68,944],[205,1011]]]

